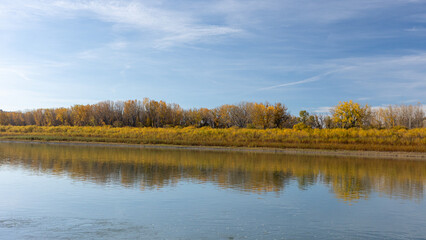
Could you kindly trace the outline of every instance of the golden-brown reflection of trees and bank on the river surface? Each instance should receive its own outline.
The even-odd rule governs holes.
[[[424,161],[263,153],[1,143],[1,165],[141,190],[182,180],[255,193],[282,192],[291,181],[300,189],[322,183],[349,202],[372,192],[422,199],[426,183]]]

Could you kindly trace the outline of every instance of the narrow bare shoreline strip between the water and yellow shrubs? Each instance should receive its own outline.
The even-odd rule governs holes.
[[[298,148],[247,148],[247,147],[215,147],[215,146],[184,146],[162,144],[123,144],[123,143],[98,143],[98,142],[58,142],[58,141],[30,141],[30,140],[0,140],[0,143],[31,143],[68,146],[98,146],[121,148],[149,148],[149,149],[180,149],[192,151],[220,151],[220,152],[254,152],[277,154],[301,154],[321,156],[342,156],[361,158],[381,158],[398,160],[426,160],[426,153],[420,152],[384,152],[384,151],[359,151],[359,150],[326,150],[326,149],[298,149]]]

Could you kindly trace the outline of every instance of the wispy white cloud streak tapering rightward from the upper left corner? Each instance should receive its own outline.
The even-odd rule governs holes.
[[[95,18],[111,23],[115,28],[133,29],[145,33],[153,39],[154,47],[164,48],[175,44],[206,41],[218,36],[231,36],[243,32],[242,29],[203,22],[189,12],[177,12],[149,6],[140,1],[7,1],[0,3],[0,16],[14,15],[26,19],[55,18]]]

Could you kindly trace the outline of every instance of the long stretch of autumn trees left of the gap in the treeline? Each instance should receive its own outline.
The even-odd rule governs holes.
[[[178,104],[167,104],[145,98],[143,101],[104,101],[71,108],[37,109],[26,112],[0,112],[1,125],[165,127],[210,126],[213,128],[256,127],[283,128],[291,118],[280,103],[240,103],[214,109],[184,110]]]

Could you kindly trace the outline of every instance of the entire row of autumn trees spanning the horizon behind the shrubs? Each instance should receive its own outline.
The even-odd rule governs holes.
[[[342,102],[331,114],[300,111],[291,115],[284,104],[242,102],[214,109],[184,110],[145,98],[143,101],[103,101],[70,108],[37,109],[25,112],[0,110],[0,125],[168,127],[210,126],[212,128],[418,128],[425,113],[420,104],[372,109],[352,101]]]

